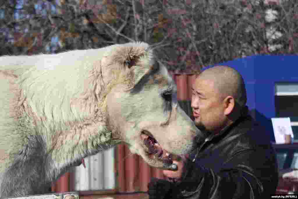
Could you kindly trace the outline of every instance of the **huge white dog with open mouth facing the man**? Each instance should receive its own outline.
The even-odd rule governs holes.
[[[190,153],[202,137],[146,43],[0,63],[2,198],[46,193],[74,163],[121,141],[175,169],[170,154]]]

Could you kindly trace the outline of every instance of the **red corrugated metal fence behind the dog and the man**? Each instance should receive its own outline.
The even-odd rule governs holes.
[[[193,74],[172,74],[177,84],[177,98],[182,109],[192,119],[190,107],[191,85],[195,79]],[[148,166],[139,155],[131,154],[125,144],[119,144],[116,149],[115,172],[117,177],[117,192],[147,191],[151,177],[164,178],[161,169]],[[53,192],[69,191],[69,173],[66,173],[56,183],[52,184]]]

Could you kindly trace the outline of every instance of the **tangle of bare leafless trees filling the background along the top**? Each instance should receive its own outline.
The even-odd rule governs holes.
[[[254,54],[298,53],[298,2],[262,1],[3,1],[0,53],[62,52],[142,38],[169,70],[190,71]],[[268,10],[277,12],[270,22]]]

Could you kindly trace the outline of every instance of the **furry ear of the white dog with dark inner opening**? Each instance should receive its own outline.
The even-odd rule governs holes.
[[[128,89],[137,84],[146,84],[159,69],[153,51],[146,43],[115,45],[101,60],[103,75],[125,83]],[[111,74],[107,74],[111,73]],[[108,80],[107,80],[108,82]]]

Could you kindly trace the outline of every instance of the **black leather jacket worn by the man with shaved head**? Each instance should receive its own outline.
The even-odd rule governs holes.
[[[195,163],[185,164],[176,187],[183,196],[178,198],[270,198],[277,188],[278,166],[267,135],[247,114],[220,134],[209,135]]]

